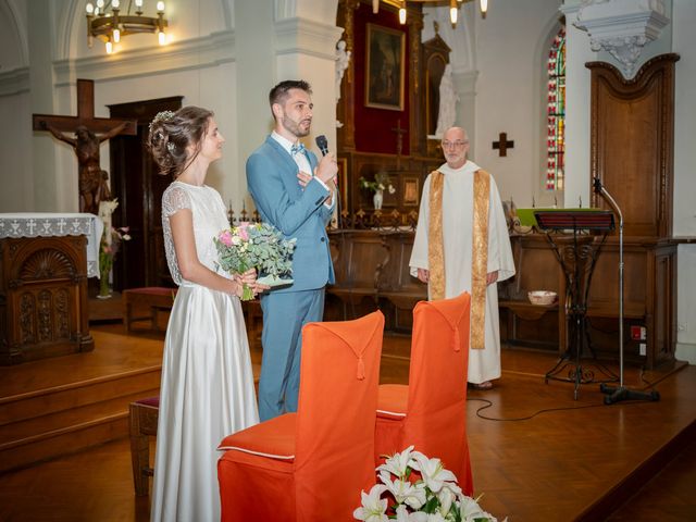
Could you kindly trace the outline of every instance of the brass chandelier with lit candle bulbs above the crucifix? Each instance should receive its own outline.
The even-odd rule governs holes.
[[[135,14],[130,9],[135,3]],[[121,13],[120,0],[97,0],[96,5],[87,2],[87,44],[92,45],[92,39],[99,38],[105,44],[107,52],[114,52],[114,44],[121,41],[122,36],[135,33],[157,34],[160,46],[166,44],[166,20],[164,20],[164,2],[157,2],[157,17],[142,15],[142,0],[128,0],[128,9]]]

